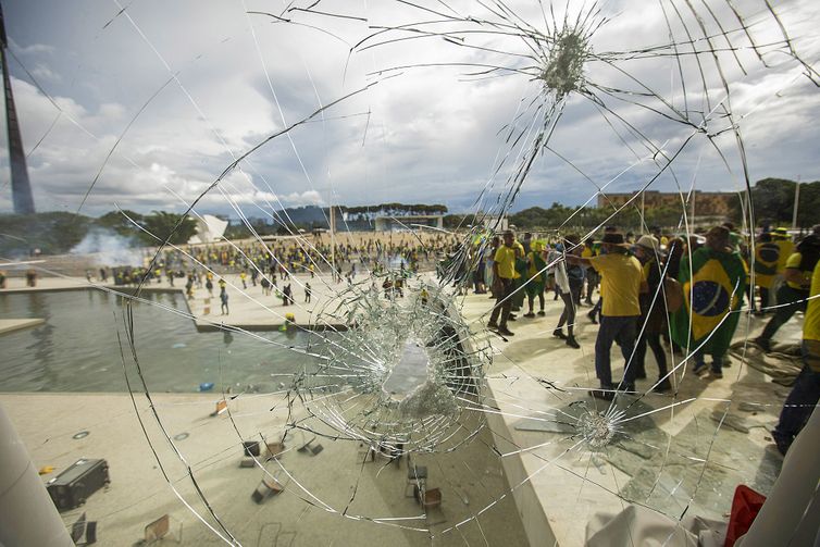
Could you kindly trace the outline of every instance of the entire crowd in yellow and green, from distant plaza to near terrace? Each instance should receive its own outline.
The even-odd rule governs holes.
[[[352,283],[357,273],[376,274],[386,298],[401,298],[405,277],[437,265],[439,277],[451,275],[460,293],[472,285],[475,294],[492,294],[495,304],[487,326],[505,340],[514,336],[512,322],[545,316],[551,297],[562,306],[558,322],[550,325],[552,336],[580,348],[579,309],[589,307],[586,316],[598,325],[599,382],[589,394],[604,400],[612,400],[618,391],[636,391],[636,381],[647,378],[647,348],[658,369],[650,389],[664,393],[673,388],[674,369],[683,362],[703,378],[723,377],[742,313],[770,315],[760,336],[751,340],[768,352],[779,328],[804,312],[805,366],[773,432],[785,453],[820,397],[820,300],[815,298],[820,294],[820,225],[797,240],[783,228],[744,236],[731,223],[715,226],[705,236],[648,232],[636,236],[608,226],[598,237],[539,238],[524,233],[517,238],[507,231],[500,236],[487,234],[472,245],[445,234],[425,239],[360,235],[340,238],[333,246],[321,236],[221,243],[163,249],[158,254],[147,251],[146,266],[101,268],[98,281],[137,285],[166,279],[171,286],[178,281],[189,298],[195,289],[213,297],[218,288],[221,313],[226,315],[224,276],[228,274],[238,277],[243,289],[259,286],[263,296],[275,293],[283,306],[291,306],[296,304],[294,275],[302,277],[297,286],[306,303],[313,296],[310,279],[320,274],[331,274],[336,284]],[[86,276],[90,282],[97,272],[89,270]],[[0,287],[4,281],[0,274]],[[34,286],[36,275],[27,284]],[[624,359],[620,380],[612,377],[614,344]]]

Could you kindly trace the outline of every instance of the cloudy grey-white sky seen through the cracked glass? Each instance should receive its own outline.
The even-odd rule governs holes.
[[[751,181],[820,179],[820,92],[782,47],[776,20],[762,1],[733,2],[743,30],[725,1],[708,3],[711,13],[697,17],[676,0],[597,4],[588,42],[571,53],[592,55],[576,83],[598,100],[570,94],[513,210],[580,204],[605,185],[737,190],[744,162],[733,123]],[[820,66],[818,2],[775,3],[802,59]],[[584,3],[570,4],[572,25]],[[76,211],[94,184],[86,214],[182,211],[234,159],[305,121],[249,154],[198,210],[261,216],[333,200],[468,211],[483,188],[490,200],[505,191],[544,124],[538,105],[550,103],[533,77],[545,60],[527,57],[533,41],[521,29],[573,35],[560,32],[562,8],[554,22],[535,0],[508,2],[507,15],[469,1],[285,5],[3,2],[37,209]],[[692,54],[687,32],[701,54]],[[510,70],[486,72],[495,66]],[[0,211],[10,212],[0,138]]]

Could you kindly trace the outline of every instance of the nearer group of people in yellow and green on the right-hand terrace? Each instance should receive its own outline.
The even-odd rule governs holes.
[[[563,311],[552,335],[579,348],[575,315],[582,302],[591,306],[587,316],[599,324],[595,341],[599,386],[589,393],[612,400],[619,390],[634,393],[635,381],[646,378],[647,346],[658,365],[651,389],[668,391],[670,355],[678,362],[692,363],[700,377],[723,377],[743,311],[772,315],[754,340],[765,351],[783,324],[796,312],[806,312],[805,366],[773,432],[785,453],[820,396],[820,301],[813,298],[820,295],[820,225],[798,241],[783,228],[767,229],[755,236],[755,245],[731,223],[712,227],[704,238],[650,232],[635,237],[609,226],[598,240],[568,235],[547,241],[530,233],[517,239],[507,231],[477,246],[471,272],[474,291],[489,290],[496,301],[487,326],[505,339],[514,336],[510,322],[521,320],[517,313],[526,307],[523,318],[545,315],[545,298],[554,291]],[[625,361],[618,382],[612,380],[613,344]]]

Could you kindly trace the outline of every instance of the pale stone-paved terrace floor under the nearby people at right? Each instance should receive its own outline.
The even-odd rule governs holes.
[[[463,313],[481,325],[490,303],[485,296],[470,296]],[[531,540],[541,537],[537,545],[549,545],[551,535],[559,545],[583,545],[589,518],[619,512],[626,500],[668,515],[723,520],[738,484],[768,494],[782,463],[768,430],[788,388],[733,359],[722,380],[701,380],[681,366],[676,394],[646,394],[657,378],[647,351],[649,378],[637,382],[642,395],[612,405],[625,412],[621,435],[594,450],[574,422],[580,409],[609,408],[587,394],[598,385],[597,326],[585,316],[589,308],[582,308],[575,333],[581,349],[569,348],[551,335],[561,309],[550,297],[545,318],[519,314],[510,323],[515,336],[509,341],[490,335],[497,355],[489,386],[501,410],[490,414],[490,424],[501,452],[520,452],[504,459],[505,471],[510,484],[522,483],[517,502]],[[744,316],[735,338],[757,336],[767,320]],[[779,340],[798,343],[799,327],[793,320]],[[617,347],[612,369],[619,378],[623,358]]]

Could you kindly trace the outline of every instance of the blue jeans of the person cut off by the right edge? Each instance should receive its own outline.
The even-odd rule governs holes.
[[[785,452],[800,433],[820,399],[820,372],[816,372],[810,363],[813,361],[816,368],[820,364],[820,343],[803,340],[803,370],[794,381],[792,391],[780,412],[778,426],[772,432],[774,442],[782,452]]]

